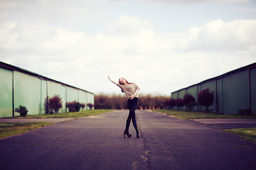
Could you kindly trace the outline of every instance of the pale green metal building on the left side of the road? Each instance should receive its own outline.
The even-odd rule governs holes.
[[[17,116],[19,105],[28,109],[28,115],[45,114],[44,101],[47,96],[60,95],[62,108],[67,112],[66,102],[74,100],[94,105],[94,94],[71,85],[52,80],[34,72],[0,62],[0,117]]]

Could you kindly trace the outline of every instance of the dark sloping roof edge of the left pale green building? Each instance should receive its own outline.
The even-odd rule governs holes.
[[[68,87],[72,87],[72,88],[75,88],[75,89],[79,89],[79,90],[82,90],[82,91],[85,91],[85,92],[89,92],[89,91],[86,91],[86,90],[83,90],[83,89],[74,87],[74,86],[72,86],[72,85],[68,85],[68,84],[65,84],[65,83],[63,83],[63,82],[59,82],[59,81],[53,80],[53,79],[51,79],[51,78],[44,77],[44,76],[42,76],[42,75],[39,75],[39,74],[36,74],[36,73],[34,73],[34,72],[25,70],[25,69],[23,69],[23,68],[15,67],[15,66],[10,65],[10,64],[7,64],[7,63],[5,63],[5,62],[1,62],[1,61],[0,61],[0,67],[3,67],[3,68],[8,69],[8,70],[14,70],[14,71],[22,72],[22,73],[25,73],[25,74],[28,74],[28,75],[32,75],[32,76],[34,76],[34,77],[41,78],[41,79],[43,79],[43,80],[49,80],[49,81],[51,81],[51,82],[56,82],[56,83],[59,83],[59,84],[64,85],[64,86],[68,86]],[[93,94],[92,92],[90,92],[90,93]]]

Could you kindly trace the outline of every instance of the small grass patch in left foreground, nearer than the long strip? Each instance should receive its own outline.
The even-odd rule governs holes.
[[[29,122],[29,123],[0,123],[0,139],[24,133],[37,128],[42,128],[46,125],[51,125],[52,122]]]

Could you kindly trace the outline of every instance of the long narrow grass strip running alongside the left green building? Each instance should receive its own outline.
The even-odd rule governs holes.
[[[44,114],[44,115],[27,115],[26,117],[5,117],[5,118],[63,118],[63,117],[86,117],[90,115],[97,115],[104,112],[110,112],[112,110],[85,110],[81,112],[64,112],[64,113],[56,113],[56,114]]]

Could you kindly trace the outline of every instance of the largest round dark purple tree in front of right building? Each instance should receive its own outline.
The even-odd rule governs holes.
[[[210,92],[210,89],[207,87],[207,89],[198,93],[197,100],[201,106],[205,106],[205,111],[207,112],[207,107],[211,106],[214,102],[214,92]]]

